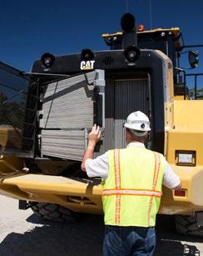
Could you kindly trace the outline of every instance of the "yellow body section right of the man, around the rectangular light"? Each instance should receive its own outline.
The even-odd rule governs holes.
[[[186,197],[165,189],[160,213],[192,214],[203,210],[203,101],[175,100],[173,128],[167,132],[166,158],[181,178]],[[196,166],[176,165],[176,150],[196,151]]]

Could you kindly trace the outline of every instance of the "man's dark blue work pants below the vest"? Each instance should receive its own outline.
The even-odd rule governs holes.
[[[156,244],[155,228],[107,226],[104,256],[152,256]]]

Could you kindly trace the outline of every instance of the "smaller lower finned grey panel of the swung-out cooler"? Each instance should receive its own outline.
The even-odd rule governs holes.
[[[84,130],[42,130],[43,156],[82,160],[84,133]]]

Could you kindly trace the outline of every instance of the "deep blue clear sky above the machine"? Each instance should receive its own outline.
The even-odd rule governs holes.
[[[128,0],[137,23],[150,23],[150,0]],[[186,44],[203,43],[203,1],[151,0],[152,28],[180,27]],[[126,0],[7,0],[0,8],[0,60],[29,71],[42,53],[106,49],[102,33],[120,31]],[[203,72],[203,48],[196,72]],[[186,65],[186,62],[183,63]]]

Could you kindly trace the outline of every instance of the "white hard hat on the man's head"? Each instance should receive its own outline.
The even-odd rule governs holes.
[[[136,130],[139,132],[151,131],[150,120],[146,116],[146,114],[142,113],[141,111],[136,111],[131,113],[127,117],[126,123],[124,123],[124,126],[131,130]]]

